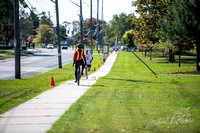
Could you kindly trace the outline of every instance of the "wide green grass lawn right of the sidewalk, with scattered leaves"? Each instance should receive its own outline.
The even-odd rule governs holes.
[[[111,72],[100,78],[48,133],[200,132],[200,77],[170,75],[194,71],[195,61],[152,61],[120,52]]]

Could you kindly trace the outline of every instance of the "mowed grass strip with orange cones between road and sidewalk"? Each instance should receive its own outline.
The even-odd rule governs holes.
[[[98,64],[101,64],[101,61],[101,55],[94,55],[90,73],[94,72],[94,67],[98,70]],[[8,111],[48,89],[52,89],[52,76],[56,86],[65,81],[75,79],[74,69],[72,63],[70,63],[63,66],[62,69],[57,68],[31,77],[0,80],[0,113]]]

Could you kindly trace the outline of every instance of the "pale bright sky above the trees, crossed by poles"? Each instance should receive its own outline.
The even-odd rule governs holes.
[[[25,0],[29,7],[33,6],[36,8],[36,14],[45,11],[48,15],[50,12],[51,20],[54,25],[56,24],[56,11],[55,3],[51,0]],[[55,0],[54,0],[55,1]],[[74,3],[80,4],[80,0],[71,0]],[[79,20],[80,7],[73,4],[70,0],[58,0],[59,8],[59,23],[62,24],[64,21],[72,22]],[[90,0],[82,0],[82,14],[83,19],[90,18]],[[132,7],[132,0],[103,0],[103,20],[109,22],[112,20],[114,14],[125,14],[135,13],[136,8]],[[92,0],[93,13],[92,17],[97,18],[97,0]],[[27,9],[29,11],[29,9]],[[99,19],[102,19],[102,0],[99,0]]]

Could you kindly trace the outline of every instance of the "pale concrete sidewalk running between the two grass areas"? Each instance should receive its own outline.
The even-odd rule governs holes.
[[[117,57],[110,54],[106,63],[81,79],[80,86],[74,80],[67,81],[39,96],[0,115],[0,133],[45,133],[75,103],[97,79],[106,76]]]

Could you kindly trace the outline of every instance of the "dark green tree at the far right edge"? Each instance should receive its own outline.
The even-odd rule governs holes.
[[[178,47],[179,51],[196,44],[197,71],[200,71],[200,18],[198,15],[200,1],[175,0],[161,23],[160,35],[162,40],[167,38]],[[187,46],[185,46],[187,43]]]

